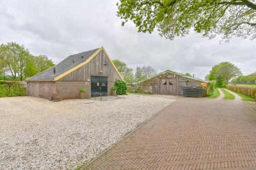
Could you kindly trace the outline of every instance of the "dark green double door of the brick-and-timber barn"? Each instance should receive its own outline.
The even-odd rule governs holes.
[[[108,77],[91,76],[91,97],[108,95]]]

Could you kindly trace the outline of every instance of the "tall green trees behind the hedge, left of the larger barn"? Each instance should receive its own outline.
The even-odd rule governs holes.
[[[34,56],[16,42],[0,45],[0,79],[23,81],[54,65],[47,56]]]

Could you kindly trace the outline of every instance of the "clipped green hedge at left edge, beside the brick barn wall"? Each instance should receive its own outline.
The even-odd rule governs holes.
[[[22,82],[0,80],[0,98],[24,95],[26,95],[26,88]]]

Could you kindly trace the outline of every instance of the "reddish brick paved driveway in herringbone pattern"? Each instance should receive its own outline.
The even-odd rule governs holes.
[[[246,105],[178,99],[87,169],[256,169],[256,113]]]

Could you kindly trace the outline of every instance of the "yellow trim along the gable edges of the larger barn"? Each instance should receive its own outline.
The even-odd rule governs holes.
[[[114,63],[113,63],[112,60],[110,59],[108,53],[106,53],[106,51],[105,51],[105,49],[104,49],[103,46],[100,47],[100,48],[99,48],[91,57],[89,57],[86,61],[84,61],[84,62],[78,64],[77,66],[75,66],[75,67],[69,69],[69,70],[66,71],[66,72],[63,72],[61,75],[55,77],[53,80],[54,80],[54,81],[57,81],[57,80],[61,79],[62,77],[64,77],[64,76],[70,74],[70,73],[73,72],[74,70],[80,68],[81,66],[83,66],[83,65],[85,65],[85,64],[87,64],[87,63],[89,63],[95,56],[97,56],[97,54],[98,54],[101,50],[103,50],[103,51],[105,52],[106,57],[108,57],[108,59],[110,60],[111,64],[114,66],[114,68],[116,69],[116,71],[117,71],[118,75],[120,76],[120,78],[122,79],[122,81],[124,81],[123,78],[122,78],[122,76],[120,75],[120,72],[117,70],[116,66],[114,65]]]

